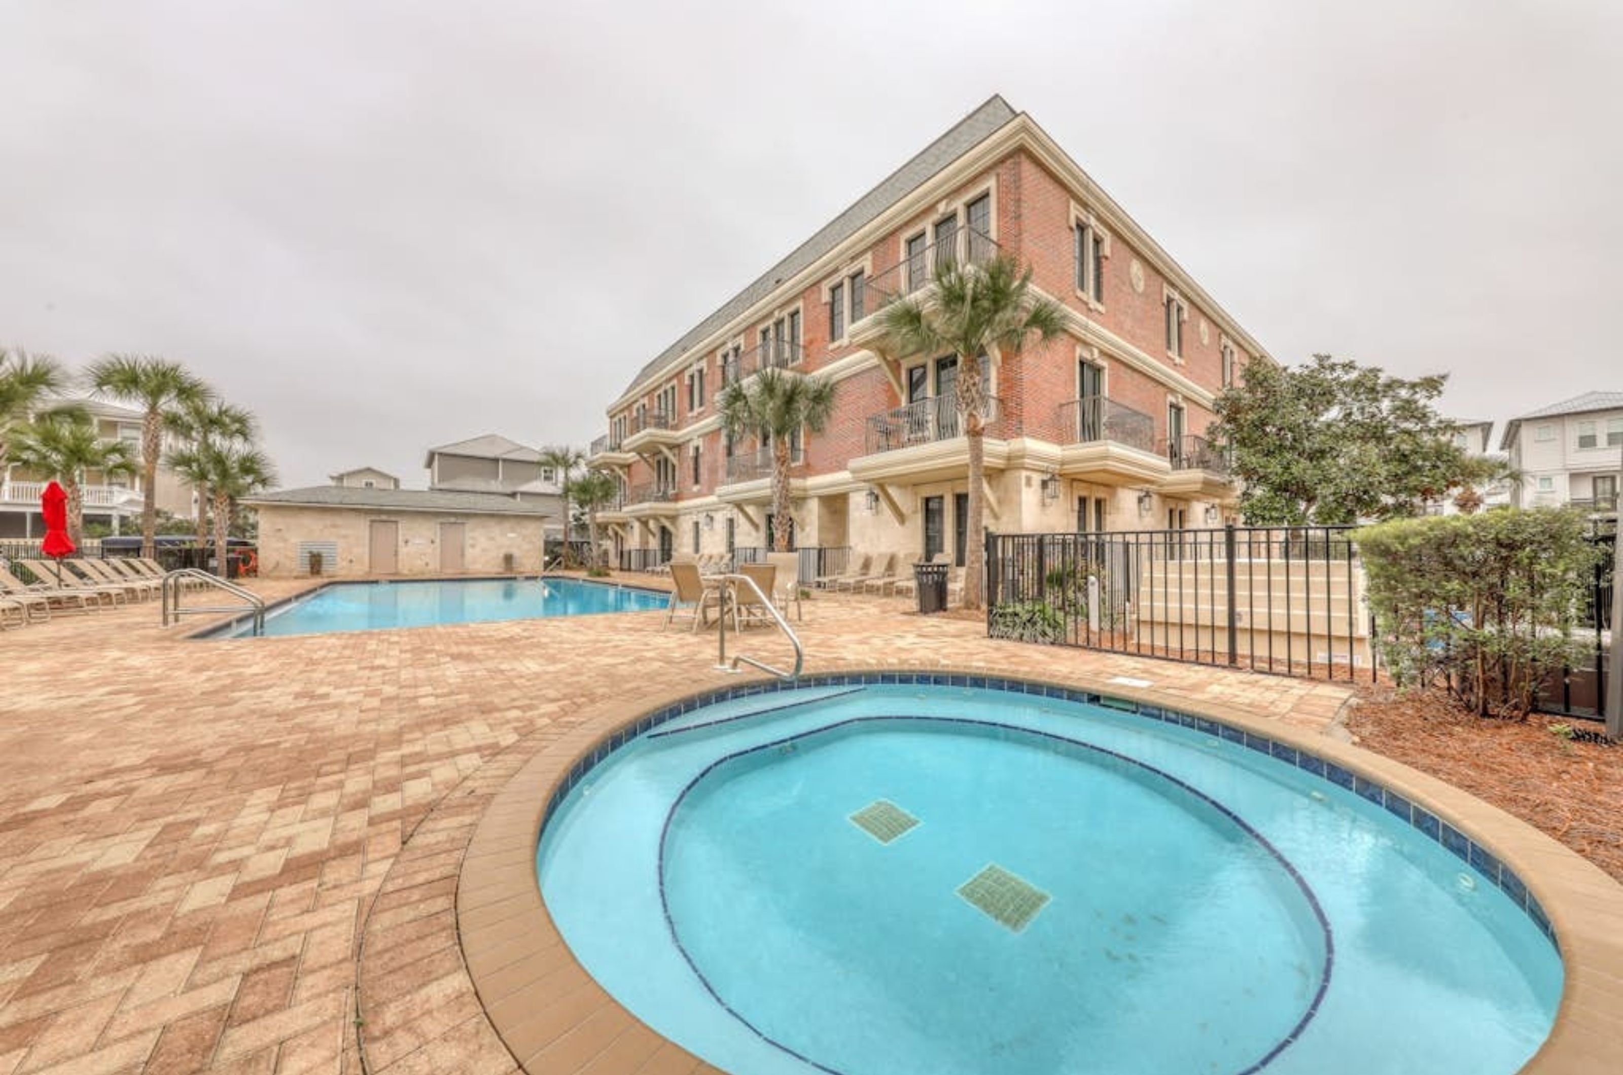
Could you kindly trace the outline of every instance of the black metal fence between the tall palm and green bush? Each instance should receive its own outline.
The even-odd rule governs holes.
[[[1225,526],[987,536],[987,628],[1000,638],[1373,677],[1347,526]]]

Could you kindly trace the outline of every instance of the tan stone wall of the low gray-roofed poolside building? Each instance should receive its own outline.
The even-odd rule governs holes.
[[[393,575],[441,575],[441,523],[461,523],[463,573],[493,575],[508,570],[539,572],[542,518],[523,515],[472,515],[454,512],[403,512],[313,505],[256,505],[260,513],[260,575],[287,578],[304,573],[302,549],[325,544],[321,573],[377,575],[372,562],[373,521],[398,526]],[[386,533],[386,529],[385,529]],[[326,555],[331,552],[331,555]]]

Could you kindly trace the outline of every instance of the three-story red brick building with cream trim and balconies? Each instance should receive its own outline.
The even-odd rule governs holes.
[[[1066,333],[988,372],[995,531],[1217,525],[1237,490],[1204,438],[1214,396],[1271,360],[1026,114],[992,97],[649,360],[607,408],[591,463],[623,502],[599,515],[633,562],[769,542],[769,455],[727,438],[717,391],[763,367],[837,383],[797,437],[797,546],[949,552],[962,563],[967,451],[958,360],[886,354],[875,313],[941,260],[1014,257]],[[672,263],[678,260],[674,252]]]

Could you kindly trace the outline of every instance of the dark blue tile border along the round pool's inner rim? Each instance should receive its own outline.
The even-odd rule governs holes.
[[[925,687],[975,687],[985,690],[1001,690],[1008,693],[1032,695],[1042,698],[1057,698],[1061,702],[1076,702],[1083,705],[1097,705],[1115,713],[1133,713],[1146,719],[1160,721],[1164,724],[1177,724],[1178,727],[1188,727],[1220,742],[1240,744],[1248,750],[1272,758],[1281,765],[1292,765],[1302,771],[1318,776],[1344,791],[1349,791],[1373,807],[1380,807],[1391,814],[1393,817],[1406,822],[1410,828],[1420,831],[1420,835],[1441,844],[1456,859],[1459,859],[1467,869],[1487,880],[1488,883],[1500,888],[1516,906],[1527,914],[1534,926],[1539,927],[1556,952],[1560,952],[1560,939],[1556,937],[1555,927],[1550,924],[1548,914],[1545,914],[1543,906],[1529,892],[1527,883],[1508,866],[1505,866],[1498,856],[1495,856],[1488,848],[1475,843],[1467,833],[1461,831],[1454,825],[1441,820],[1436,814],[1422,807],[1417,802],[1410,802],[1407,797],[1396,791],[1391,791],[1384,784],[1368,779],[1367,776],[1357,775],[1352,770],[1321,758],[1318,755],[1308,753],[1289,744],[1269,739],[1253,731],[1245,731],[1216,721],[1208,716],[1199,716],[1195,713],[1183,713],[1180,710],[1169,710],[1160,705],[1139,703],[1131,698],[1121,698],[1115,695],[1100,695],[1091,690],[1079,690],[1073,687],[1061,687],[1058,684],[1044,684],[1037,680],[1013,679],[1001,676],[967,676],[962,672],[823,672],[803,676],[797,682],[753,682],[740,684],[737,687],[719,687],[712,690],[698,692],[683,697],[677,702],[665,705],[664,708],[654,710],[644,715],[638,721],[618,727],[613,732],[605,734],[596,744],[592,744],[586,753],[583,753],[568,771],[568,776],[558,784],[552,797],[547,802],[547,809],[542,815],[542,828],[552,820],[552,814],[563,804],[563,799],[570,791],[599,763],[602,763],[610,753],[631,742],[638,736],[659,727],[665,721],[682,716],[683,713],[691,713],[693,710],[712,705],[717,702],[729,702],[732,698],[747,698],[763,693],[777,693],[782,690],[795,690],[802,687],[865,687],[865,685],[925,685]]]

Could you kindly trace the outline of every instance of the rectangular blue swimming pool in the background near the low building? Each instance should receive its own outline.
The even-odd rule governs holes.
[[[268,609],[261,633],[321,635],[547,615],[646,612],[664,609],[667,604],[669,598],[662,593],[576,578],[329,583]],[[253,633],[252,620],[234,620],[203,637],[242,638]]]

